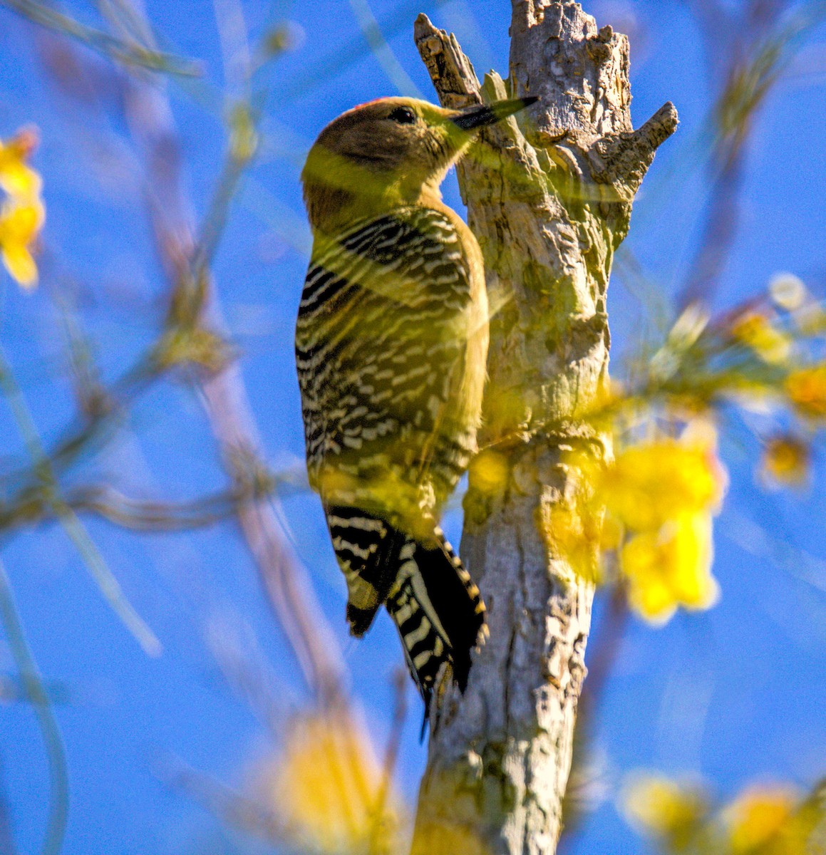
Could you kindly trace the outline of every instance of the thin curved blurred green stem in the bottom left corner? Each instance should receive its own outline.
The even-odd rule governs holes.
[[[68,817],[69,793],[66,751],[52,710],[49,694],[45,690],[37,663],[29,650],[20,616],[17,613],[15,598],[9,585],[9,577],[6,575],[2,563],[0,563],[0,619],[3,621],[3,629],[6,638],[9,640],[9,648],[15,659],[15,665],[20,672],[21,682],[38,716],[40,733],[43,734],[43,741],[49,758],[49,820],[40,852],[42,855],[57,855],[66,836]]]

